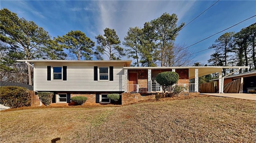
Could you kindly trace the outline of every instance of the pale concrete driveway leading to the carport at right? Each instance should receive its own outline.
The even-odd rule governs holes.
[[[231,97],[231,98],[240,98],[240,99],[247,99],[247,100],[256,100],[256,94],[248,94],[248,93],[200,93],[204,95],[211,95],[211,96],[221,96],[221,97]]]

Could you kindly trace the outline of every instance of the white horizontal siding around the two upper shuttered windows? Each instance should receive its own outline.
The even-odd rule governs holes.
[[[67,66],[67,80],[47,80],[47,66]],[[113,66],[114,81],[94,81],[94,66]],[[34,63],[36,91],[124,91],[121,63]]]

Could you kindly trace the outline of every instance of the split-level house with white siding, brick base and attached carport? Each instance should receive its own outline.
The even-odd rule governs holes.
[[[17,60],[34,67],[34,91],[53,92],[53,104],[70,103],[73,96],[86,96],[86,103],[108,104],[108,94],[122,94],[121,103],[138,101],[142,95],[162,92],[156,75],[164,71],[179,74],[177,85],[186,86],[187,93],[198,92],[198,77],[219,72],[223,68],[247,67],[130,67],[131,60],[67,61]],[[195,83],[189,80],[195,78]],[[220,84],[220,89],[223,84]],[[221,90],[220,90],[221,92]]]

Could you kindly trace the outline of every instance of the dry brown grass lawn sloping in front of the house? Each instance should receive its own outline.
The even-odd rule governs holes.
[[[222,97],[0,112],[1,143],[256,141],[256,101]]]

